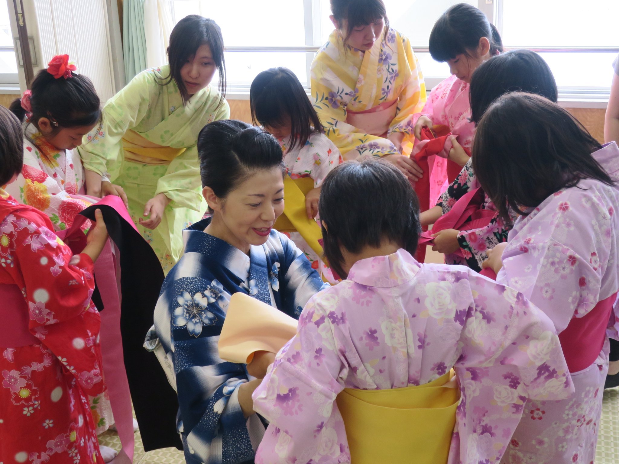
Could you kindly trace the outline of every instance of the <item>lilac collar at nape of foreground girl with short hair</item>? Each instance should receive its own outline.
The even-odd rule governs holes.
[[[400,248],[387,256],[357,261],[348,272],[347,280],[371,287],[394,287],[415,278],[421,265],[409,252]]]

